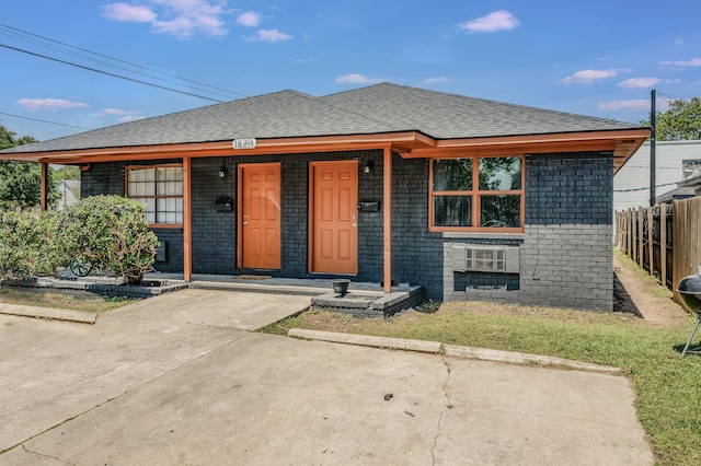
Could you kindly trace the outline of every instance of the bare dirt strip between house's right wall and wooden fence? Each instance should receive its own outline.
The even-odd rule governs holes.
[[[613,255],[614,311],[631,312],[653,325],[677,325],[687,318],[687,312],[671,300],[671,291],[665,291],[634,264]]]

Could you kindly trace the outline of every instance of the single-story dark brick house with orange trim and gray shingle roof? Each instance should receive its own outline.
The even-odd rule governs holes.
[[[0,152],[143,202],[163,271],[423,286],[612,308],[613,174],[634,124],[382,83],[281,91]]]

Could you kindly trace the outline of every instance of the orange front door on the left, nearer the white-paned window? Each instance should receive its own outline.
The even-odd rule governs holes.
[[[239,267],[280,268],[280,164],[239,165]]]

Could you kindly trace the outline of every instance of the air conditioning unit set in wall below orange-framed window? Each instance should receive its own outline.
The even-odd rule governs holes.
[[[461,272],[518,273],[519,248],[514,246],[456,245],[451,251],[452,269]]]

